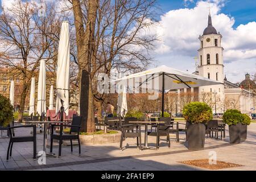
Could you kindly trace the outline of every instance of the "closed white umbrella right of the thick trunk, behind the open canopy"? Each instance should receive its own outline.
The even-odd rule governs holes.
[[[119,78],[121,77],[123,77],[122,73],[119,75]],[[127,111],[126,84],[118,84],[117,113],[125,117]]]

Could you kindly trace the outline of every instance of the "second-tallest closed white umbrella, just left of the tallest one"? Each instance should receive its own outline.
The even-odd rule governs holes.
[[[36,111],[39,115],[46,113],[46,60],[40,60],[38,77],[38,104]]]

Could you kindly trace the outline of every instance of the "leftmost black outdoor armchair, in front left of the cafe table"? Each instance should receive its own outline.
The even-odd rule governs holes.
[[[33,135],[28,136],[20,136],[16,137],[14,134],[14,129],[32,127]],[[33,158],[36,158],[36,125],[21,125],[21,126],[13,126],[13,123],[10,123],[9,134],[10,134],[10,142],[7,149],[7,160],[9,160],[9,156],[11,156],[11,151],[13,150],[13,143],[15,142],[33,142]]]

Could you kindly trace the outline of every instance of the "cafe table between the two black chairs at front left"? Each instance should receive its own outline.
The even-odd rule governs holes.
[[[53,153],[49,153],[46,151],[46,137],[47,137],[47,127],[49,124],[65,124],[66,122],[63,121],[24,121],[24,123],[31,124],[31,125],[36,125],[36,124],[43,124],[44,125],[44,138],[43,138],[43,151],[45,152],[46,155],[52,156],[56,158],[56,155]],[[43,154],[38,154],[38,157]]]

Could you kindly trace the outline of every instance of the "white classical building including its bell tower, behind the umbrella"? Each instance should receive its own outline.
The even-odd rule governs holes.
[[[217,80],[222,84],[171,90],[170,93],[176,92],[178,96],[176,113],[182,112],[184,103],[179,103],[182,100],[184,102],[182,97],[186,97],[185,100],[189,101],[187,93],[192,93],[193,100],[200,100],[212,106],[213,113],[224,113],[226,109],[238,109],[246,114],[255,113],[256,96],[253,90],[256,89],[256,84],[250,80],[249,74],[246,74],[246,79],[239,84],[227,80],[224,76],[224,48],[221,47],[221,39],[222,35],[213,27],[212,17],[209,14],[208,26],[203,35],[199,36],[200,48],[197,50],[199,63],[194,74]]]

